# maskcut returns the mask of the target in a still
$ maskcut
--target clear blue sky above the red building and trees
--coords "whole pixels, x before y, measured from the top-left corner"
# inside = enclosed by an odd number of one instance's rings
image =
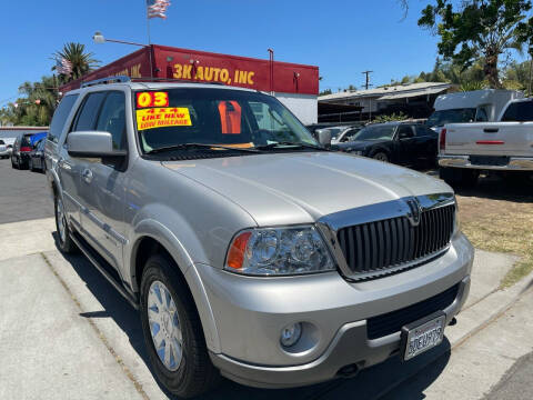
[[[433,69],[438,38],[416,24],[426,1],[411,0],[403,19],[396,0],[171,0],[168,19],[150,21],[152,43],[318,66],[320,88],[338,91],[390,83]],[[51,74],[51,54],[66,42],[86,44],[101,64],[137,48],[92,42],[107,38],[145,43],[144,0],[2,0],[0,107],[24,81]]]

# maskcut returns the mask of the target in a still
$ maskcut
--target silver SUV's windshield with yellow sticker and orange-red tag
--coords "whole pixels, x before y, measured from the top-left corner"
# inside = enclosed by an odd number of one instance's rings
[[[275,98],[259,92],[164,89],[137,92],[135,104],[143,152],[187,143],[235,148],[278,142],[319,144]]]

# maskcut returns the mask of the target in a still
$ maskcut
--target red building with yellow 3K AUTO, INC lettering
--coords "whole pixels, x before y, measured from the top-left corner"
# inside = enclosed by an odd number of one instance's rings
[[[60,88],[78,89],[82,81],[110,76],[153,77],[274,92],[304,123],[316,122],[319,68],[151,44]]]

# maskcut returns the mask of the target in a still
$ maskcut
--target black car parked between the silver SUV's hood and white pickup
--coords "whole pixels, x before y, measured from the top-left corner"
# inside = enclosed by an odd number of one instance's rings
[[[419,123],[386,122],[361,129],[338,150],[404,166],[434,164],[439,134]]]

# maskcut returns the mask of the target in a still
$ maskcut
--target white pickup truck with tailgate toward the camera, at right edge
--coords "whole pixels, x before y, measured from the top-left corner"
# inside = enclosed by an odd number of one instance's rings
[[[533,99],[510,101],[497,121],[444,126],[439,139],[441,179],[472,186],[483,170],[533,173]]]

